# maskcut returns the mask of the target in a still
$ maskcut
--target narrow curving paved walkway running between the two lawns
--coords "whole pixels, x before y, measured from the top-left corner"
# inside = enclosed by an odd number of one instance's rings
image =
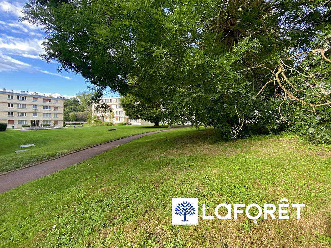
[[[77,151],[57,159],[48,160],[41,164],[32,167],[24,168],[22,170],[13,171],[8,174],[0,176],[0,193],[6,192],[10,189],[16,188],[29,181],[50,175],[54,172],[67,168],[71,165],[80,163],[81,161],[113,149],[119,145],[136,140],[150,134],[160,133],[171,129],[163,129],[159,131],[148,132],[144,134],[137,134],[122,138],[119,140],[111,141],[105,144],[96,145],[82,151]]]

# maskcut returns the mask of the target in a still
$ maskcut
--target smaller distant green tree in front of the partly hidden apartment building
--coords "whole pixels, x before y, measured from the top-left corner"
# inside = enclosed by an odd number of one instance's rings
[[[144,103],[138,98],[128,95],[121,98],[121,106],[130,119],[150,121],[154,123],[155,127],[158,127],[162,120],[162,110],[157,103]]]

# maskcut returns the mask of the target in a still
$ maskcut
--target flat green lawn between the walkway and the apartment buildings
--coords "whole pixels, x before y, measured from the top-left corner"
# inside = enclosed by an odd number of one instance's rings
[[[108,131],[108,128],[116,128]],[[153,126],[77,127],[54,130],[22,131],[7,129],[0,132],[0,172],[25,164],[49,159],[91,145],[126,136],[161,130]],[[20,145],[34,144],[26,148]],[[30,149],[15,153],[15,150]]]

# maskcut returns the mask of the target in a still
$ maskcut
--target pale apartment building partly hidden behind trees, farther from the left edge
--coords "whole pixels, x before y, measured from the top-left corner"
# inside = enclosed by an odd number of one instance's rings
[[[129,119],[128,116],[125,115],[125,111],[123,110],[121,103],[120,103],[120,97],[105,97],[101,99],[101,103],[108,104],[113,112],[114,112],[114,119],[113,123],[120,123],[120,122],[126,122],[130,123],[131,125],[152,125],[153,123],[149,121],[144,120],[133,120]],[[110,114],[109,111],[100,111],[95,109],[95,104],[92,105],[92,118],[93,119],[99,119],[102,121],[111,121],[110,120]]]

